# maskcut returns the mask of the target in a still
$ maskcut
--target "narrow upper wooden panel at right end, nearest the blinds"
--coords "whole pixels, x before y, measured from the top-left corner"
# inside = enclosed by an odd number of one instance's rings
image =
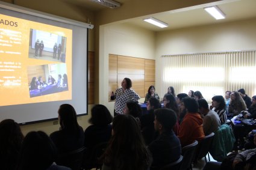
[[[155,60],[145,59],[145,82],[155,81]]]

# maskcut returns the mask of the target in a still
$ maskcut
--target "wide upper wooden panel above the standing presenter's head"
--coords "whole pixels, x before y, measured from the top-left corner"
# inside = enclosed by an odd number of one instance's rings
[[[118,55],[117,74],[145,74],[145,59]]]

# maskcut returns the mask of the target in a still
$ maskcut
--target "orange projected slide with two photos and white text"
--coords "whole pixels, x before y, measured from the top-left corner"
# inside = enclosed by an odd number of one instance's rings
[[[72,30],[0,19],[0,106],[71,100]]]

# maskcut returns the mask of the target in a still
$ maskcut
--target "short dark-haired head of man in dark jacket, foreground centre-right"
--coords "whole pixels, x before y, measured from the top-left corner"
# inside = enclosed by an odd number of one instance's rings
[[[177,121],[176,113],[172,109],[155,109],[154,127],[158,132],[171,132]]]

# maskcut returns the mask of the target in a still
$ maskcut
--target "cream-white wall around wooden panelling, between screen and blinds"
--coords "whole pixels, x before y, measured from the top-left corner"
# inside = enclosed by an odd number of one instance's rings
[[[114,102],[108,102],[108,54],[155,59],[155,32],[119,23],[101,26],[99,37],[99,103],[113,114]]]

